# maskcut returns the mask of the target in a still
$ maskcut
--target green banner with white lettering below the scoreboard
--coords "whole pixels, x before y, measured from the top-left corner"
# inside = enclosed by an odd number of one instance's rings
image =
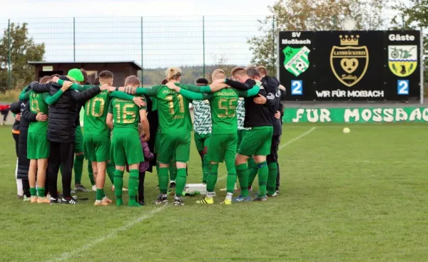
[[[285,108],[284,122],[428,122],[428,108]]]

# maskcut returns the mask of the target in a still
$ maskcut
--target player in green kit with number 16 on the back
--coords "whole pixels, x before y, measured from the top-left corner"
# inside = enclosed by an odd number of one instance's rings
[[[132,85],[132,83],[130,84]],[[131,86],[126,88],[136,89]],[[113,98],[111,100],[110,106],[108,107],[107,125],[113,129],[113,139],[111,140],[111,160],[116,164],[116,170],[114,172],[114,187],[117,206],[123,205],[123,172],[126,164],[129,166],[128,206],[141,206],[136,201],[139,176],[138,167],[140,162],[144,161],[143,150],[141,150],[140,135],[138,133],[138,119],[141,122],[144,133],[146,134],[144,142],[147,142],[150,139],[150,127],[147,120],[146,106],[138,108],[137,105],[129,100],[119,98]]]

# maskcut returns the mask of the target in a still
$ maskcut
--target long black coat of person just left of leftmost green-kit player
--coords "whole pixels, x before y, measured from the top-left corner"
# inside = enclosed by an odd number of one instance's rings
[[[18,179],[29,179],[30,160],[27,158],[27,135],[30,122],[36,121],[36,114],[30,111],[29,101],[19,101],[21,106],[21,122],[19,127],[18,145]]]

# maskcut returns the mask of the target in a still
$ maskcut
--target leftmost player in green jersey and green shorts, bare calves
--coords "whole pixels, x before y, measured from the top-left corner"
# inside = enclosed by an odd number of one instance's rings
[[[49,78],[46,83],[51,79]],[[41,79],[41,83],[44,83]],[[29,98],[30,111],[34,114],[42,113],[48,115],[49,105],[56,103],[58,98],[68,90],[71,85],[64,85],[54,95],[49,93],[35,93],[33,90],[27,92],[26,98]],[[20,97],[21,98],[21,97]],[[29,185],[31,194],[31,203],[49,204],[50,199],[45,197],[46,168],[48,167],[48,157],[50,153],[49,140],[46,137],[48,132],[48,122],[31,122],[27,137],[27,158],[30,159]],[[36,178],[38,187],[36,189]]]

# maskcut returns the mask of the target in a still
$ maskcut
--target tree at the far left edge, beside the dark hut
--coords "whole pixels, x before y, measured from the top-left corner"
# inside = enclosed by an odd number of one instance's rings
[[[29,38],[27,23],[23,23],[22,26],[19,23],[11,23],[10,40],[9,65],[9,32],[6,29],[3,38],[0,38],[0,87],[22,87],[34,79],[34,71],[28,61],[43,61],[45,45],[34,43],[33,38]],[[11,83],[8,83],[9,68]]]

